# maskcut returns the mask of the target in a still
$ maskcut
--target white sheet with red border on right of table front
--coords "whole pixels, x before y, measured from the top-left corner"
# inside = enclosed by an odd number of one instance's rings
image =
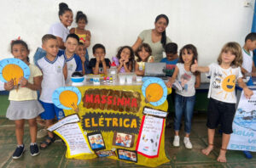
[[[163,118],[143,116],[136,147],[137,154],[143,154],[148,158],[158,157],[164,122]]]

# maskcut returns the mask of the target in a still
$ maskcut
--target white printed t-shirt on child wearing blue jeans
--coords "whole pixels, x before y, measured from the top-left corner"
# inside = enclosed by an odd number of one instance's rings
[[[184,68],[184,64],[177,63],[178,68],[177,81],[183,87],[182,91],[176,90],[176,93],[184,97],[191,97],[195,95],[195,75],[191,71]]]

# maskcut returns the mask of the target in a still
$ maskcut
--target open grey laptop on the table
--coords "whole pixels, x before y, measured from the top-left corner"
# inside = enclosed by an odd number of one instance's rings
[[[144,76],[166,77],[166,63],[145,63]]]

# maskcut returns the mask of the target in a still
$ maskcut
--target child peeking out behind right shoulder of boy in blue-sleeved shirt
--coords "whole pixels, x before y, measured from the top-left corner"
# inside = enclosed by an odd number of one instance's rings
[[[89,66],[89,56],[84,43],[79,42],[79,47],[77,48],[76,54],[79,55],[82,61],[83,74],[92,74],[92,70]]]

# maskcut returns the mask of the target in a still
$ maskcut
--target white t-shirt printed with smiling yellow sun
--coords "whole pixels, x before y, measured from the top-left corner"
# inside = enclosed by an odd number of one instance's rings
[[[216,63],[208,67],[210,70],[207,76],[211,76],[208,98],[236,104],[236,81],[242,77],[240,67],[223,69]]]

